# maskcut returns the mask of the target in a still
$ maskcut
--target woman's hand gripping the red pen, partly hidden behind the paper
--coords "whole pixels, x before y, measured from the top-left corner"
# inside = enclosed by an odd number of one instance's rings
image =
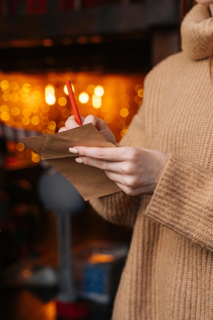
[[[94,127],[98,129],[98,131],[103,135],[103,137],[106,139],[106,141],[116,144],[115,136],[112,133],[112,131],[109,129],[108,125],[103,119],[94,117],[92,115],[87,116],[86,118],[81,117],[82,125],[92,123]],[[65,126],[60,128],[58,132],[62,132],[65,130],[73,129],[79,127],[79,124],[77,123],[75,116],[70,116],[66,122]]]

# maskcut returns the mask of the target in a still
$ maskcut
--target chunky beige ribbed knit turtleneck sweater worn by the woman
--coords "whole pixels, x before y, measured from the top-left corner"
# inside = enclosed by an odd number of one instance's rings
[[[213,18],[196,5],[181,25],[182,52],[147,75],[143,105],[122,145],[170,154],[153,196],[91,201],[132,242],[113,320],[213,319]]]

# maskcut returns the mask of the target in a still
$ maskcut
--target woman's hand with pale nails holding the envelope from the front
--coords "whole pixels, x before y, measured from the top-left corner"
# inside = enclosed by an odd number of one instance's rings
[[[74,147],[76,162],[104,170],[126,194],[152,195],[167,163],[168,155],[135,147]]]

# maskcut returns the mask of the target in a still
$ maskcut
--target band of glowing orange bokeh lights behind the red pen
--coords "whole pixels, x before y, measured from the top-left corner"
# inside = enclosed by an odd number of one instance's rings
[[[43,134],[57,132],[64,126],[66,119],[73,115],[67,97],[67,79],[75,83],[75,88],[73,83],[72,87],[76,101],[80,101],[80,115],[86,117],[92,114],[104,119],[117,141],[128,130],[130,120],[144,94],[143,79],[141,80],[139,75],[83,72],[35,75],[1,73],[1,79],[0,121],[7,126],[35,130]],[[18,156],[26,156],[26,150],[17,153]]]

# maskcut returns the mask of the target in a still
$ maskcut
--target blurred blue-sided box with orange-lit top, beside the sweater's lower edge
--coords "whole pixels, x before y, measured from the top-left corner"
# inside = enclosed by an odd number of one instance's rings
[[[75,249],[76,295],[100,303],[114,299],[129,247],[125,243],[93,241]]]

